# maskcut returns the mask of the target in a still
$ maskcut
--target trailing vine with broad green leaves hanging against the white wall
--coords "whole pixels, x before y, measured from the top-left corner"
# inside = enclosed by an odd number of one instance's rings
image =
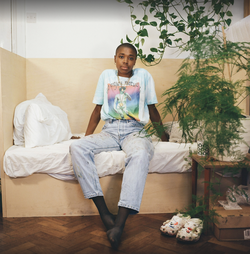
[[[162,60],[167,47],[182,49],[202,34],[213,32],[216,36],[221,31],[220,26],[231,24],[232,13],[228,8],[234,4],[233,0],[147,0],[139,3],[143,10],[140,18],[134,14],[133,1],[117,1],[127,3],[130,7],[132,27],[136,35],[129,40],[127,37],[127,41],[137,47],[142,62],[150,66]],[[156,55],[147,55],[143,51],[150,28],[158,33],[158,46],[151,49]]]

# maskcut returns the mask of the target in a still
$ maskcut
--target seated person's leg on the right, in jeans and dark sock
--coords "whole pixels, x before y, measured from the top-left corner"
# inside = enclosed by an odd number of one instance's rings
[[[121,122],[119,126],[121,147],[126,153],[126,161],[118,215],[114,228],[107,231],[108,239],[114,249],[118,248],[128,215],[131,212],[139,212],[149,162],[154,154],[151,140],[146,138],[145,134],[139,135],[141,128],[142,126],[136,121],[129,124]]]

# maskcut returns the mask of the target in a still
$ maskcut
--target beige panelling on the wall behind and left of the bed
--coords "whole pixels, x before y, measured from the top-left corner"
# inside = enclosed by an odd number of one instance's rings
[[[175,83],[181,61],[164,59],[149,68],[137,63],[136,67],[146,68],[152,74],[159,102],[161,94]],[[73,133],[84,132],[94,108],[92,99],[99,75],[104,69],[114,67],[113,59],[24,59],[0,48],[0,167],[4,216],[7,214],[6,200],[13,195],[8,188],[12,186],[10,182],[14,185],[20,182],[10,179],[2,169],[4,152],[13,143],[15,107],[43,93],[68,114]],[[171,116],[165,120],[171,120]],[[101,125],[97,131],[100,128]]]

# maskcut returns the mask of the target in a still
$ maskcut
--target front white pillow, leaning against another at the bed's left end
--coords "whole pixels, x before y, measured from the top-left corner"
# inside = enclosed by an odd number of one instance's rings
[[[67,114],[52,104],[31,103],[25,114],[25,148],[47,146],[72,136]]]

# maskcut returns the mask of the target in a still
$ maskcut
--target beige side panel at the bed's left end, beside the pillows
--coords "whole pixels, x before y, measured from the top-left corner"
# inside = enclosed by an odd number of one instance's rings
[[[13,144],[14,109],[26,99],[26,60],[2,48],[0,48],[0,88],[0,176],[2,202],[5,204],[6,175],[2,168],[3,156]]]

